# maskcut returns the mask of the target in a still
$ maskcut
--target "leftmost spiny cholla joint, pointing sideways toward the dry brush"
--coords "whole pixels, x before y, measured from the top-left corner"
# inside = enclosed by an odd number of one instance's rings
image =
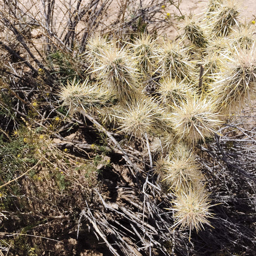
[[[74,79],[61,88],[59,98],[62,105],[68,107],[70,113],[83,113],[106,106],[110,94],[106,88],[89,83],[89,78],[83,83]]]

